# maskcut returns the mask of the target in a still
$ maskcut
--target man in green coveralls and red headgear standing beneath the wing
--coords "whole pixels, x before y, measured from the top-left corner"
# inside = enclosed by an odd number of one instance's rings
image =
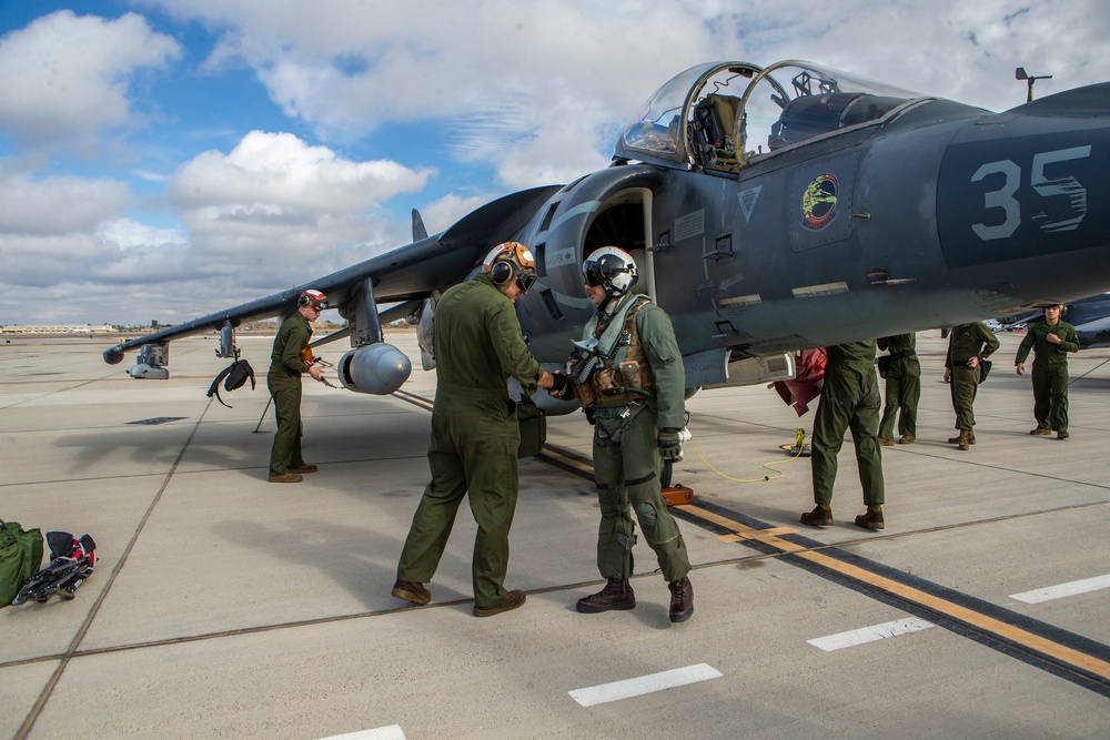
[[[270,483],[300,483],[302,473],[315,473],[301,457],[301,376],[324,377],[323,371],[304,358],[312,339],[312,325],[327,307],[327,296],[320,291],[304,291],[296,298],[296,311],[282,321],[270,355],[266,387],[274,399],[278,434],[270,452]],[[310,357],[311,349],[306,353]]]

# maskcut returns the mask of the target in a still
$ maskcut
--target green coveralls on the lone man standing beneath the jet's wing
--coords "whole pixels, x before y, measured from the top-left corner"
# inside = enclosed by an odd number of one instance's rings
[[[274,348],[270,355],[266,387],[274,399],[278,433],[270,450],[270,475],[283,475],[290,468],[304,465],[301,457],[301,375],[309,366],[301,358],[301,349],[312,339],[309,320],[297,311],[278,327]]]

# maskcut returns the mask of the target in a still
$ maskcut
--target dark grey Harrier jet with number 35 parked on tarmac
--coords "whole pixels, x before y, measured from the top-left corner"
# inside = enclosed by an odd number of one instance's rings
[[[440,292],[512,240],[536,256],[539,281],[516,306],[551,367],[593,311],[583,260],[616,245],[670,314],[692,389],[781,379],[796,351],[1104,290],[1107,173],[1110,83],[992,113],[803,61],[706,63],[652,95],[605,170],[506,195],[434,236],[414,212],[412,244],[104,359],[139,349],[130,374],[165,377],[170,341],[213,330],[234,356],[235,326],[289,314],[314,287],[349,322],[342,384],[389,394],[411,364],[383,322],[428,323]]]

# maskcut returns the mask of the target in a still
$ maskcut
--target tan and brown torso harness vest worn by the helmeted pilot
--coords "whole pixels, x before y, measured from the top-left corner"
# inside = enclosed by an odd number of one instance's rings
[[[594,315],[566,363],[574,397],[583,408],[635,406],[655,397],[655,376],[636,331],[636,314],[652,300],[638,295],[597,334]]]

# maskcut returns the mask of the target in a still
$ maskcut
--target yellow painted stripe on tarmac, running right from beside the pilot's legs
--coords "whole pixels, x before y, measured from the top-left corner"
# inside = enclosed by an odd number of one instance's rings
[[[790,554],[819,565],[823,568],[847,576],[848,578],[857,580],[861,584],[874,586],[875,588],[901,597],[907,601],[919,604],[938,614],[942,614],[963,624],[971,625],[972,627],[976,627],[985,632],[997,635],[998,637],[1009,640],[1010,642],[1027,647],[1030,650],[1036,650],[1045,656],[1054,658],[1060,662],[1074,666],[1076,668],[1101,678],[1110,679],[1110,662],[1106,660],[1101,660],[1093,656],[1089,656],[1086,652],[1074,650],[1060,645],[1059,642],[1040,637],[1039,635],[1035,635],[1028,630],[1021,629],[1020,627],[1008,625],[1005,621],[995,619],[993,617],[988,617],[987,615],[980,614],[973,609],[961,607],[958,604],[949,601],[948,599],[934,596],[922,591],[921,589],[914,588],[912,586],[907,586],[890,578],[879,576],[878,574],[874,574],[870,570],[860,568],[859,566],[854,566],[842,560],[829,557],[824,553],[815,553],[814,550],[810,550],[801,545],[787,543],[777,536],[778,534],[796,534],[795,530],[789,528],[783,527],[778,530],[755,529],[740,524],[739,521],[734,521],[728,517],[720,516],[719,514],[707,511],[706,509],[693,504],[686,504],[677,508],[680,508],[684,511],[689,511],[706,521],[712,521],[718,526],[727,527],[734,531],[733,535],[722,535],[719,537],[720,539],[728,537],[735,537],[735,540],[731,541],[757,539],[784,551],[789,551]]]

